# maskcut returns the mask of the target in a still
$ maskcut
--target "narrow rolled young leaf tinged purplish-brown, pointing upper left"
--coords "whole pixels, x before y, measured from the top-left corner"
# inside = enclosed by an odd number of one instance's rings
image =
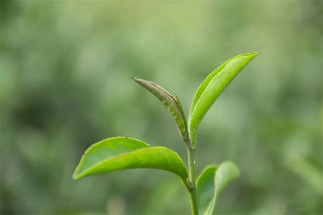
[[[161,103],[168,109],[170,114],[173,116],[177,128],[180,132],[180,136],[183,140],[187,137],[186,131],[186,119],[184,112],[181,111],[180,104],[178,102],[178,98],[175,99],[174,96],[172,96],[169,92],[167,92],[164,88],[161,86],[147,81],[143,79],[133,78],[134,81],[136,81],[139,85],[145,87],[148,91],[150,91],[154,96],[156,96]]]

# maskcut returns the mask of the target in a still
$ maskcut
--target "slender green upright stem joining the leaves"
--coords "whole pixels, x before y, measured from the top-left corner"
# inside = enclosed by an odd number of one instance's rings
[[[189,198],[191,201],[192,214],[198,215],[196,199],[196,186],[195,186],[195,148],[190,140],[185,141],[187,145],[187,157],[188,157],[188,183],[189,183]]]

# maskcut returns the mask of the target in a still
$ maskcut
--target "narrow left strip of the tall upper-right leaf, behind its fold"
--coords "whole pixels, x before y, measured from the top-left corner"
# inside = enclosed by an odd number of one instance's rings
[[[198,102],[200,101],[200,98],[203,96],[203,93],[205,92],[206,88],[208,87],[209,83],[215,78],[215,76],[217,76],[221,71],[223,71],[225,69],[225,67],[227,66],[227,64],[229,64],[231,61],[238,59],[240,57],[247,57],[247,56],[251,56],[251,55],[258,55],[258,52],[250,52],[250,53],[245,53],[245,54],[240,54],[237,55],[229,60],[227,60],[226,62],[224,62],[223,64],[221,64],[219,67],[217,67],[213,72],[211,72],[207,78],[202,82],[202,84],[198,87],[198,89],[195,92],[195,95],[193,97],[193,101],[191,104],[191,107],[189,109],[189,114],[188,114],[188,131],[189,131],[189,135],[191,140],[193,141],[193,143],[195,144],[195,136],[196,136],[196,131],[195,131],[195,135],[192,138],[191,136],[191,120],[192,117],[194,115],[194,111],[195,111],[195,107],[198,104]]]

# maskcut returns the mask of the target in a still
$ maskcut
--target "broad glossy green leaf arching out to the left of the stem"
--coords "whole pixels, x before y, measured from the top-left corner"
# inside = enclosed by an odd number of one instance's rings
[[[176,152],[165,147],[150,147],[133,138],[113,137],[93,144],[84,152],[73,179],[138,168],[166,170],[187,178],[185,164]]]

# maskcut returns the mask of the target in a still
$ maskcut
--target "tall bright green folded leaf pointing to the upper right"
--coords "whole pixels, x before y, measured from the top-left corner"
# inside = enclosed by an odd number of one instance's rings
[[[196,144],[196,130],[222,91],[232,79],[255,57],[258,52],[238,55],[215,69],[197,89],[188,116],[191,140]]]

